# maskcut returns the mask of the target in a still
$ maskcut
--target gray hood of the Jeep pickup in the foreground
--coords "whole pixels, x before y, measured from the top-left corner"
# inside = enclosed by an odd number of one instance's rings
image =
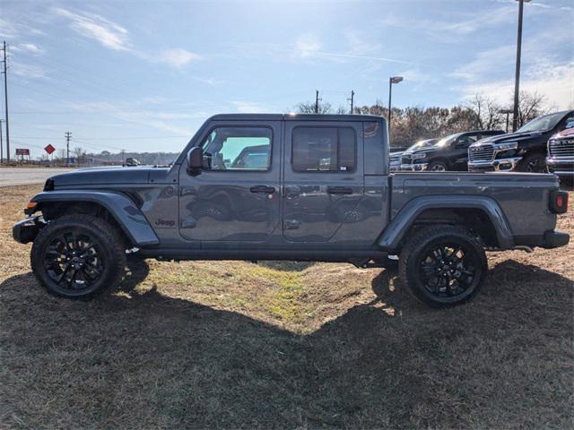
[[[124,168],[79,168],[72,172],[52,176],[54,186],[68,185],[111,185],[111,184],[147,184],[151,166]]]

